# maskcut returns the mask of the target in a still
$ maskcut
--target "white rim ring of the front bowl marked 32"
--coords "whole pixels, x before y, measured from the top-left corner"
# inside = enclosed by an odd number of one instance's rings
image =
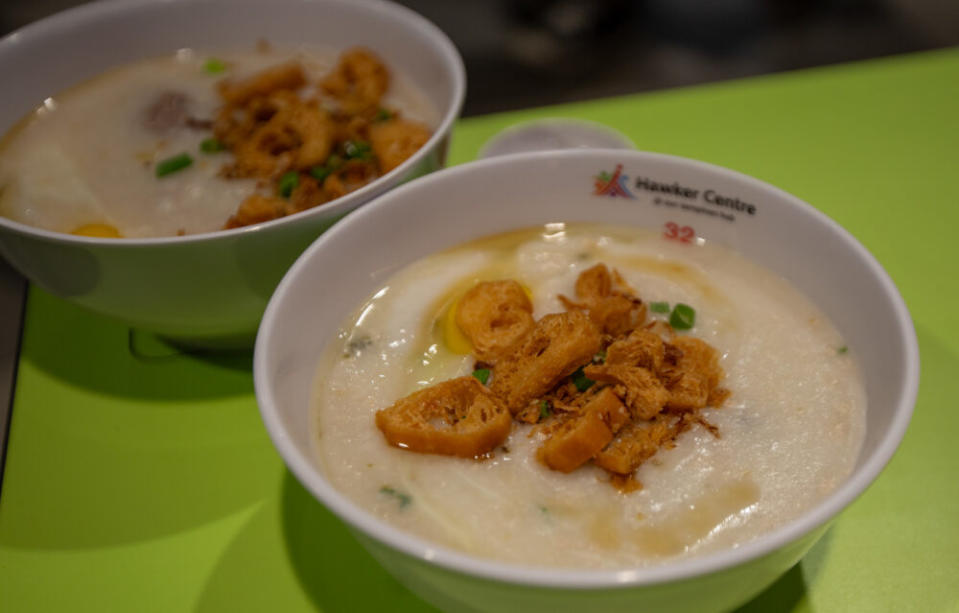
[[[800,517],[793,519],[785,525],[761,534],[755,539],[732,549],[724,549],[701,556],[637,568],[602,570],[569,569],[563,567],[522,565],[473,556],[432,543],[425,538],[406,533],[374,517],[368,511],[347,498],[345,494],[339,492],[339,490],[326,480],[309,457],[301,454],[294,445],[288,442],[285,428],[279,417],[279,411],[270,393],[271,375],[269,363],[267,362],[267,354],[271,351],[273,344],[272,329],[274,322],[277,321],[277,314],[285,301],[284,297],[297,283],[297,278],[301,275],[301,271],[310,266],[312,261],[323,252],[325,245],[333,240],[340,232],[346,231],[353,225],[371,223],[368,219],[376,215],[380,208],[391,206],[391,203],[394,202],[395,199],[399,199],[410,192],[415,193],[419,190],[429,189],[430,185],[434,182],[450,180],[461,174],[482,171],[485,168],[514,165],[518,162],[531,164],[547,163],[549,161],[555,161],[557,158],[582,158],[584,160],[591,160],[611,154],[615,154],[623,159],[628,159],[631,162],[656,159],[665,160],[673,164],[688,165],[700,170],[718,172],[733,180],[760,188],[766,191],[771,197],[779,199],[786,203],[787,206],[799,208],[818,223],[824,224],[828,229],[836,232],[849,247],[851,255],[862,260],[879,282],[895,314],[896,326],[894,332],[897,334],[899,342],[901,342],[905,348],[904,358],[906,365],[902,374],[900,393],[898,398],[895,399],[894,414],[888,429],[880,437],[873,453],[866,457],[865,461],[826,498],[811,507]],[[496,582],[540,588],[562,588],[571,590],[615,589],[650,586],[693,579],[740,566],[769,555],[812,533],[816,528],[828,524],[828,522],[850,505],[875,481],[879,473],[898,449],[912,417],[918,393],[919,346],[915,328],[906,304],[892,279],[875,257],[837,222],[796,196],[738,171],[691,158],[648,151],[624,151],[617,149],[568,150],[496,156],[450,167],[432,173],[417,181],[402,185],[392,190],[389,194],[377,198],[371,202],[369,206],[363,207],[337,223],[304,251],[287,271],[287,274],[271,297],[257,333],[254,348],[253,374],[261,418],[278,453],[300,483],[309,490],[321,504],[332,510],[341,520],[352,528],[363,532],[368,537],[379,541],[391,549],[398,550],[419,561],[437,565],[454,573],[462,573]]]

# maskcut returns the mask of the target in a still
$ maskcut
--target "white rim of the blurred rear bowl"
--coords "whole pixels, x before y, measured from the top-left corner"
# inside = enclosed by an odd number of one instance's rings
[[[273,2],[275,0],[269,0]],[[65,232],[46,230],[25,224],[0,215],[0,227],[6,227],[20,234],[33,236],[52,242],[65,242],[78,245],[100,245],[104,247],[131,247],[131,246],[162,246],[168,244],[198,243],[215,240],[221,237],[240,237],[269,229],[279,229],[289,224],[299,223],[302,220],[318,217],[336,219],[337,216],[350,212],[352,209],[365,204],[378,193],[395,188],[403,175],[419,165],[428,155],[443,146],[442,141],[449,137],[453,123],[459,117],[466,98],[466,67],[463,58],[453,41],[436,24],[420,15],[416,11],[401,4],[388,0],[284,0],[288,5],[329,4],[345,6],[348,10],[380,12],[402,22],[406,27],[418,31],[425,40],[428,40],[442,60],[443,67],[451,77],[451,101],[442,112],[440,122],[433,129],[429,140],[402,164],[386,174],[377,177],[374,181],[364,185],[356,191],[331,200],[320,206],[293,213],[279,219],[232,228],[229,230],[210,230],[184,236],[151,236],[130,238],[99,238],[78,236]],[[0,38],[0,56],[8,49],[20,44],[30,44],[49,38],[55,41],[56,36],[63,30],[83,28],[117,13],[136,13],[155,6],[172,6],[188,4],[231,4],[229,0],[94,0],[93,2],[71,7],[59,11],[35,22],[26,24]],[[122,64],[122,62],[121,62]],[[117,66],[121,64],[115,64]],[[22,120],[21,118],[20,120]],[[20,121],[18,120],[18,121]],[[13,126],[17,125],[14,123]],[[0,133],[0,139],[9,131]]]

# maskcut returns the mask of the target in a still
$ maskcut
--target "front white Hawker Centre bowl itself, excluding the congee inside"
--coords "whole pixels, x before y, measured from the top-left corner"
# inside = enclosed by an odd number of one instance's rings
[[[597,181],[601,171],[613,179]],[[693,186],[700,195],[714,190],[748,206],[736,210],[648,192],[638,186],[639,178]],[[614,184],[625,193],[609,195]],[[471,557],[405,534],[331,487],[311,450],[310,390],[321,352],[344,318],[418,258],[480,236],[560,221],[666,232],[688,227],[761,262],[805,293],[861,360],[868,415],[852,475],[798,519],[737,549],[616,571]],[[387,569],[447,611],[703,612],[747,601],[795,564],[879,475],[906,430],[918,372],[915,332],[895,286],[865,248],[825,215],[736,172],[610,150],[493,158],[383,195],[327,232],[291,268],[266,310],[254,358],[263,420],[290,470]]]

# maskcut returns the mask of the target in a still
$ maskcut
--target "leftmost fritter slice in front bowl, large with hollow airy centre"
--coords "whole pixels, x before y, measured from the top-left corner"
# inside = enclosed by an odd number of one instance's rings
[[[376,412],[387,442],[417,451],[475,458],[509,436],[512,416],[475,377],[437,383]]]

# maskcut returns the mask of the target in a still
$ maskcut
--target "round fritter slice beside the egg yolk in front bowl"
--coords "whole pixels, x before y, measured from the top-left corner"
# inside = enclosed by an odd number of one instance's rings
[[[456,325],[473,344],[476,358],[495,364],[503,351],[536,325],[533,303],[516,281],[484,281],[460,298]]]

